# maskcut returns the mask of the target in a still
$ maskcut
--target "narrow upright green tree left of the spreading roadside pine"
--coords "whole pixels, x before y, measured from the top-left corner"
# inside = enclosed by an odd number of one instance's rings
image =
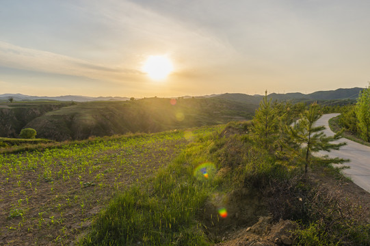
[[[256,110],[252,122],[254,141],[260,143],[265,150],[270,150],[278,138],[278,117],[271,99],[267,100],[267,90],[265,97],[259,104],[259,109]]]

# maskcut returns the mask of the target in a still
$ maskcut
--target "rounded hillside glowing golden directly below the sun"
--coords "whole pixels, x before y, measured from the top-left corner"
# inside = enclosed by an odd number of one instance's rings
[[[38,137],[64,141],[124,133],[154,133],[252,118],[257,105],[220,98],[172,101],[145,98],[124,102],[84,102],[50,111],[28,122]]]

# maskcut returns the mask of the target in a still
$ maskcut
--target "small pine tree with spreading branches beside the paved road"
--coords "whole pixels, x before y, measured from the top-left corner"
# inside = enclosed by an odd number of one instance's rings
[[[313,103],[310,105],[309,109],[301,113],[300,120],[295,126],[287,126],[287,131],[293,140],[293,146],[288,149],[291,150],[292,158],[300,159],[304,163],[304,172],[307,172],[308,163],[311,162],[312,153],[319,152],[320,150],[325,150],[330,152],[330,150],[339,150],[341,146],[347,143],[331,143],[334,140],[341,138],[341,133],[336,133],[332,137],[326,137],[323,133],[325,126],[315,126],[315,122],[321,117],[321,111],[319,110],[319,105]],[[297,146],[303,147],[297,148]],[[344,163],[347,160],[339,158],[329,158],[327,155],[316,158],[316,161],[321,163]]]

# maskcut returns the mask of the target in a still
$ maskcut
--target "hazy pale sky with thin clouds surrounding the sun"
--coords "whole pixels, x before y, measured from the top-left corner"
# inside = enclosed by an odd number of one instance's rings
[[[172,97],[366,87],[369,0],[1,0],[0,94]],[[164,55],[165,79],[143,71]]]

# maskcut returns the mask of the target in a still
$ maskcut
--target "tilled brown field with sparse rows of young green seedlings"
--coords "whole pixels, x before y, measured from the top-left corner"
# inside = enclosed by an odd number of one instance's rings
[[[153,176],[186,142],[183,132],[174,131],[1,154],[0,241],[61,245],[74,240],[117,191]]]

